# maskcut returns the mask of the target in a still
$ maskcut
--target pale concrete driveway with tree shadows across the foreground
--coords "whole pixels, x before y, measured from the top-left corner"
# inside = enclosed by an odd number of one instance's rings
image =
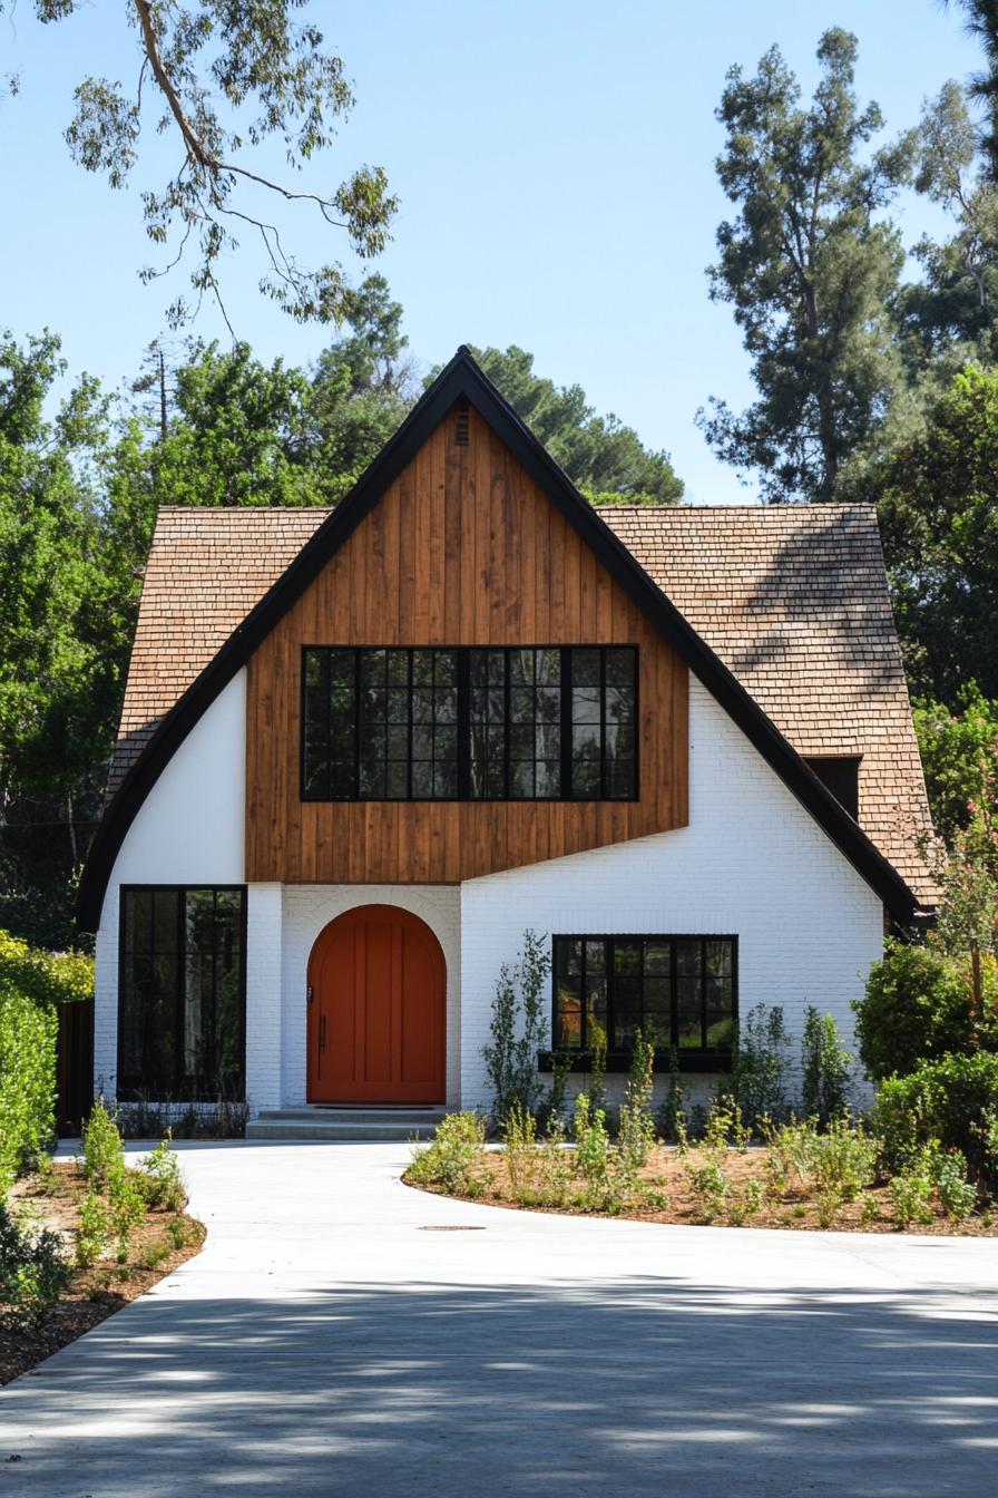
[[[995,1491],[994,1240],[504,1212],[407,1155],[187,1146],[205,1251],[0,1392],[0,1498]]]

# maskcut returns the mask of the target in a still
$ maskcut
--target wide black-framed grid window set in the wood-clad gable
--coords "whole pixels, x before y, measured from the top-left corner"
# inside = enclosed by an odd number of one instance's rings
[[[307,647],[305,801],[634,800],[633,646]]]

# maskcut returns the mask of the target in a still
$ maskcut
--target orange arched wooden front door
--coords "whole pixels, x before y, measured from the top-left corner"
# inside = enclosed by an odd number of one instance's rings
[[[308,1101],[443,1103],[446,968],[425,921],[362,905],[308,960]]]

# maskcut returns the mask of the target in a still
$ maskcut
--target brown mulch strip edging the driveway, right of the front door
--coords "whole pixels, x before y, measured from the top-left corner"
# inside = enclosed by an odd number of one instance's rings
[[[750,1149],[744,1153],[739,1153],[738,1150],[729,1152],[723,1168],[735,1191],[744,1189],[751,1179],[759,1180],[760,1185],[765,1183],[766,1155],[768,1150],[765,1149]],[[702,1159],[694,1150],[690,1152],[687,1159],[696,1164],[706,1164],[706,1161]],[[482,1161],[479,1161],[474,1176],[480,1182],[482,1189],[477,1194],[449,1192],[440,1186],[423,1186],[419,1182],[410,1180],[408,1174],[402,1176],[402,1180],[405,1185],[414,1186],[420,1191],[429,1191],[434,1195],[456,1195],[465,1201],[480,1201],[497,1207],[515,1207],[521,1212],[557,1212],[561,1215],[567,1213],[570,1216],[615,1216],[627,1218],[636,1222],[672,1222],[687,1227],[703,1227],[706,1224],[702,1203],[682,1165],[682,1158],[675,1149],[654,1149],[640,1174],[643,1180],[646,1180],[649,1191],[667,1198],[667,1206],[642,1201],[640,1198],[631,1198],[619,1212],[593,1210],[591,1207],[581,1204],[578,1200],[573,1201],[573,1194],[582,1192],[585,1185],[582,1180],[576,1179],[573,1179],[569,1186],[569,1200],[564,1206],[552,1206],[549,1201],[545,1201],[540,1189],[537,1191],[539,1200],[531,1198],[533,1192],[528,1192],[527,1198],[522,1195],[518,1197],[510,1185],[506,1171],[506,1159],[500,1150],[489,1150],[483,1155]],[[537,1176],[537,1186],[540,1186],[540,1174]],[[875,1204],[875,1216],[863,1215],[863,1201],[866,1198]],[[871,1212],[869,1207],[868,1212]],[[735,1224],[730,1224],[726,1213],[720,1212],[712,1218],[711,1225],[729,1227]],[[817,1194],[803,1191],[798,1186],[790,1186],[780,1197],[765,1191],[760,1210],[738,1225],[787,1228],[790,1231],[805,1233],[815,1230],[820,1231],[821,1224],[818,1221]],[[895,1221],[890,1186],[883,1182],[868,1186],[856,1201],[842,1204],[835,1213],[830,1231],[928,1233],[943,1237],[998,1237],[998,1212],[992,1209],[991,1212],[971,1216],[964,1222],[955,1222],[952,1218],[947,1218],[940,1203],[934,1198],[931,1224],[913,1224],[911,1227],[901,1228]]]

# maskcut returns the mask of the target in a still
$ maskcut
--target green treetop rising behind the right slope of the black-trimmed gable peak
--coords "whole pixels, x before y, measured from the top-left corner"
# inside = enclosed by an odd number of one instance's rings
[[[645,448],[616,416],[597,416],[581,385],[534,374],[534,357],[515,345],[471,349],[518,416],[593,503],[675,505],[684,484],[667,452]]]

